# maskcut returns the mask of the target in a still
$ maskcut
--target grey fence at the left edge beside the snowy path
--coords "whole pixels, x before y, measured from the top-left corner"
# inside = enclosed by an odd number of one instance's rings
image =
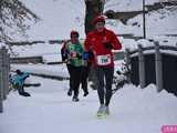
[[[2,47],[0,49],[0,113],[3,112],[3,100],[9,93],[9,73],[10,73],[10,54],[8,50]]]

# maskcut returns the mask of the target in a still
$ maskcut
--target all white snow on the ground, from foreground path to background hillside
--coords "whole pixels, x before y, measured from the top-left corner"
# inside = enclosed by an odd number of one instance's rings
[[[41,21],[28,31],[28,40],[69,39],[71,30],[77,30],[84,39],[84,1],[82,0],[22,0],[31,10],[41,17]],[[140,10],[142,0],[106,0],[105,10]],[[158,0],[146,0],[153,3]],[[158,40],[160,44],[176,45],[177,10],[163,9],[150,12],[147,19],[147,37]],[[137,22],[140,27],[133,25]],[[117,34],[133,33],[142,35],[142,16],[131,19],[127,25],[121,21],[107,20],[106,27]],[[17,40],[25,40],[13,34]],[[135,41],[121,38],[124,49],[135,49],[138,43],[150,45],[147,40]],[[60,61],[60,44],[34,44],[12,47],[19,57],[42,55],[48,61]],[[123,50],[124,50],[123,49]],[[119,64],[121,62],[116,62]],[[42,74],[69,76],[65,65],[28,64],[12,65]],[[0,133],[160,133],[163,125],[177,124],[177,98],[162,91],[156,92],[154,84],[145,89],[125,85],[118,90],[111,102],[111,115],[105,120],[95,116],[98,109],[96,91],[90,89],[90,95],[74,103],[66,95],[69,81],[55,81],[31,76],[31,82],[40,82],[39,88],[28,88],[31,98],[19,96],[11,91],[3,102],[4,112],[0,114]]]

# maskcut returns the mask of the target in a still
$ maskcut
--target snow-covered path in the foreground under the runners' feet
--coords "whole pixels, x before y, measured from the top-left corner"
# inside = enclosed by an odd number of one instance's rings
[[[0,133],[160,133],[164,124],[177,124],[176,98],[155,86],[126,85],[112,99],[111,115],[97,120],[96,91],[80,102],[66,95],[69,81],[32,76],[40,88],[28,88],[31,98],[11,92],[0,114]]]

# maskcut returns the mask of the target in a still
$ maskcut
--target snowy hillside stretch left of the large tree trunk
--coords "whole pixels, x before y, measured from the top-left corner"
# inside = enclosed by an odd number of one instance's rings
[[[28,31],[30,39],[69,39],[72,29],[84,34],[84,2],[80,0],[22,1],[42,19]]]

